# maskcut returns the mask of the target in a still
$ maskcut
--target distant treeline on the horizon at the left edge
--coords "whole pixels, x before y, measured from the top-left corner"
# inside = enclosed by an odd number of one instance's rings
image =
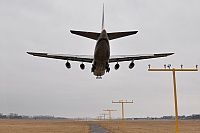
[[[38,115],[38,116],[27,116],[27,115],[18,115],[16,113],[10,113],[9,115],[4,115],[0,113],[0,119],[67,119],[65,117],[55,117],[55,116],[47,116],[47,115]]]

